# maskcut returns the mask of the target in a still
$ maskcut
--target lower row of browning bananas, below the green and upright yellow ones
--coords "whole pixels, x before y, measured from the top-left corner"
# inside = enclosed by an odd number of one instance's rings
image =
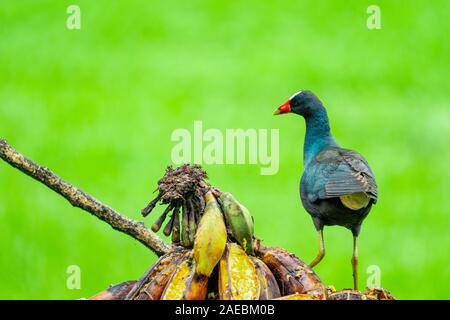
[[[219,250],[217,250],[218,252]],[[226,243],[209,276],[198,271],[195,251],[181,249],[161,257],[138,281],[126,281],[91,300],[313,300],[326,290],[314,272],[283,249],[263,247],[249,256]],[[277,260],[278,259],[278,260]],[[209,259],[212,266],[215,259]],[[267,261],[267,263],[266,263]],[[274,264],[278,261],[278,264]],[[205,264],[205,262],[202,262]],[[211,267],[210,267],[211,268]],[[285,271],[286,270],[286,271]],[[292,270],[296,270],[293,272]],[[202,274],[203,273],[203,274]]]

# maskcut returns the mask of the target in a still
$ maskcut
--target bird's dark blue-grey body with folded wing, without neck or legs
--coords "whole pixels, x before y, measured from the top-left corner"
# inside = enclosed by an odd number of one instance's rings
[[[345,207],[339,199],[358,192],[370,197],[369,204],[359,210]],[[360,154],[330,146],[305,166],[300,197],[317,229],[324,225],[341,225],[358,235],[362,221],[377,201],[378,192],[373,173]]]

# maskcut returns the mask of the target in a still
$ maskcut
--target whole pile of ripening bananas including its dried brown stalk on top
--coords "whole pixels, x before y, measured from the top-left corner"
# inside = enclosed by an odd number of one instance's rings
[[[168,204],[152,229],[172,234],[174,249],[137,281],[126,281],[92,300],[355,300],[394,299],[383,289],[365,293],[325,288],[294,254],[254,237],[248,209],[231,193],[203,181],[200,167],[168,168],[159,195],[143,210]],[[179,215],[181,214],[181,219]],[[182,228],[180,228],[180,226]]]

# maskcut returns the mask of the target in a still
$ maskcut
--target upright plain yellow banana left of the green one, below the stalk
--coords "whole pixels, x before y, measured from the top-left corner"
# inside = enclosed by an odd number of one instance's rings
[[[222,257],[227,231],[219,204],[211,192],[205,195],[206,207],[198,225],[194,241],[196,272],[209,277]]]

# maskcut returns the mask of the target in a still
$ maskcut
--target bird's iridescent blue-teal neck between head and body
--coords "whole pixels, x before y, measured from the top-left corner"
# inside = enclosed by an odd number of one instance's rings
[[[306,135],[303,145],[303,163],[306,167],[324,148],[338,146],[330,131],[327,111],[321,107],[305,117]]]

